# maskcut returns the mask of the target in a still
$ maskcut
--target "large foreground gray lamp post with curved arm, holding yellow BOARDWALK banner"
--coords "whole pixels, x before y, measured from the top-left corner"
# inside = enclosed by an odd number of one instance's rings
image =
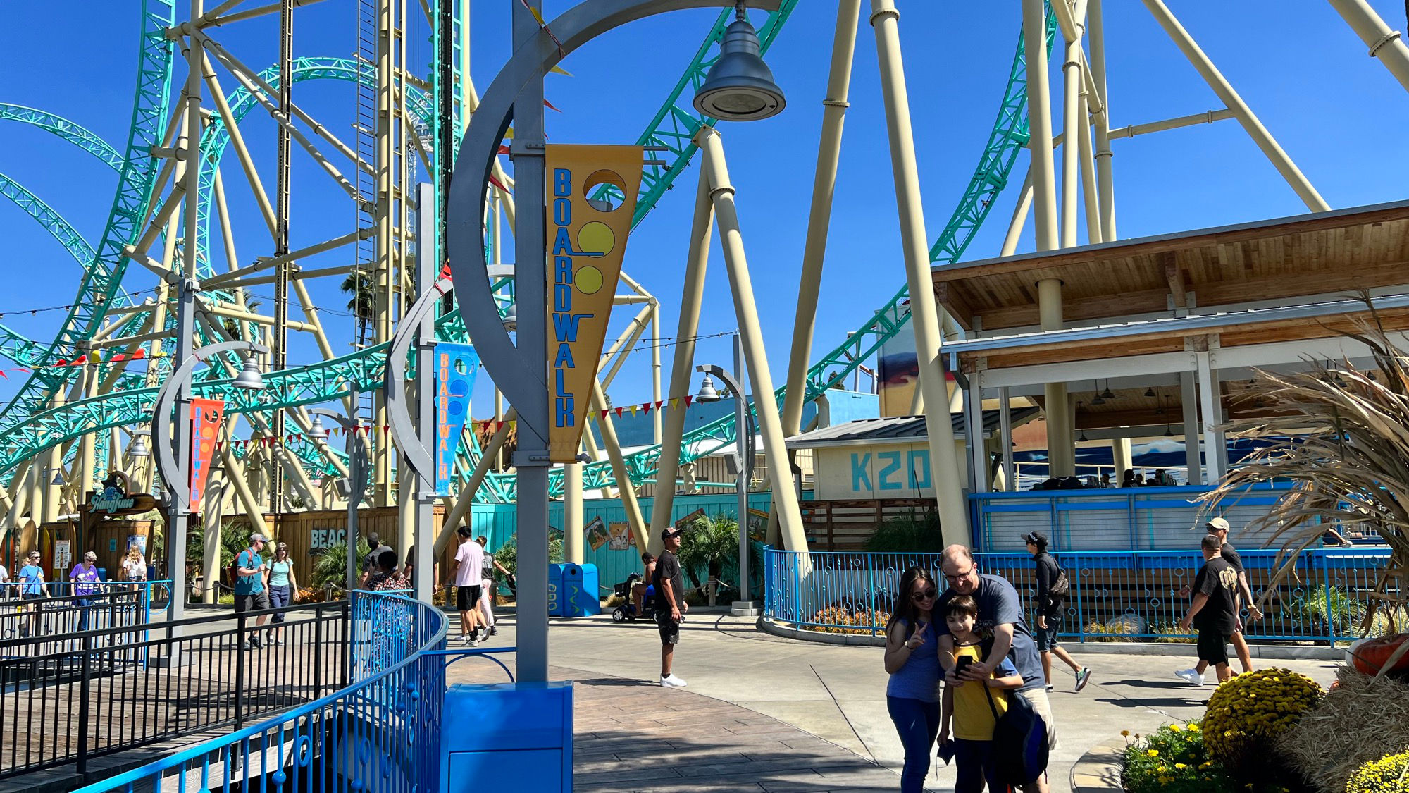
[[[445,250],[455,279],[455,293],[465,330],[485,370],[493,377],[519,413],[519,450],[514,467],[519,471],[519,679],[540,682],[548,679],[548,262],[547,255],[547,195],[544,175],[542,120],[544,76],[593,38],[665,11],[735,6],[728,0],[585,0],[568,8],[548,24],[534,18],[527,3],[514,4],[513,58],[499,71],[480,97],[455,159],[455,174],[445,200]],[[779,0],[755,0],[755,8],[776,10]],[[748,62],[761,63],[751,51],[748,27],[731,28],[734,34],[721,47],[723,55],[733,54],[731,68]],[[757,37],[752,37],[757,47]],[[764,69],[766,71],[766,68]],[[761,71],[745,69],[761,75]],[[712,75],[713,76],[713,75]],[[721,120],[761,119],[757,107],[764,85],[730,86],[720,73],[719,93],[709,95],[710,106]],[[709,86],[706,80],[706,86]],[[703,89],[704,86],[702,86]],[[710,86],[714,87],[714,86]],[[744,93],[752,92],[754,107]],[[782,92],[774,85],[779,103],[771,113],[782,110]],[[702,92],[703,93],[703,92]],[[733,95],[733,96],[731,96]],[[771,114],[769,113],[769,114]],[[499,317],[485,257],[485,185],[509,124],[514,126],[509,157],[514,162],[519,185],[519,213],[514,220],[514,244],[520,251],[538,251],[517,257],[514,295],[517,344],[509,337]],[[521,313],[521,316],[519,316]],[[406,319],[403,319],[403,323]],[[392,357],[387,358],[393,360]],[[393,423],[395,426],[395,423]]]

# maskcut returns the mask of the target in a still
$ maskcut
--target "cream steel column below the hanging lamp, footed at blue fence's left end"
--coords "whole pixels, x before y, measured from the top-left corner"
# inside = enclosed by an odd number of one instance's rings
[[[700,172],[709,175],[710,198],[714,202],[719,240],[724,253],[724,270],[728,272],[728,286],[734,296],[734,315],[738,319],[738,334],[744,344],[744,361],[748,364],[748,381],[754,387],[754,394],[759,395],[754,401],[754,409],[758,412],[758,430],[764,437],[764,460],[768,466],[768,481],[772,484],[774,511],[778,512],[783,549],[805,550],[807,535],[803,533],[797,491],[793,487],[792,468],[783,447],[782,416],[778,415],[778,404],[772,399],[774,375],[768,371],[764,333],[758,326],[758,306],[754,302],[754,284],[748,274],[748,258],[744,254],[744,236],[738,229],[734,186],[728,179],[728,167],[724,164],[724,145],[720,143],[719,133],[712,127],[702,128],[695,135],[695,143],[704,152]],[[735,432],[741,429],[735,428]],[[674,480],[671,481],[674,483]]]

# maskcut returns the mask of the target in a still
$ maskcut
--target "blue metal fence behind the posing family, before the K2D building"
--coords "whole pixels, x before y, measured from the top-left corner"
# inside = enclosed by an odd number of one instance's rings
[[[1186,587],[1202,564],[1198,552],[1060,552],[1054,553],[1071,580],[1071,595],[1060,631],[1076,641],[1188,639],[1178,628],[1188,611]],[[1275,550],[1244,550],[1253,597],[1261,600],[1272,580]],[[1036,579],[1027,553],[976,553],[981,571],[1013,583],[1024,614],[1033,614]],[[1374,588],[1375,570],[1389,560],[1388,547],[1308,550],[1296,560],[1296,576],[1282,581],[1244,632],[1260,641],[1344,641],[1358,635]],[[938,553],[859,553],[764,550],[764,617],[795,626],[847,634],[885,629],[900,576],[910,566],[941,580]]]

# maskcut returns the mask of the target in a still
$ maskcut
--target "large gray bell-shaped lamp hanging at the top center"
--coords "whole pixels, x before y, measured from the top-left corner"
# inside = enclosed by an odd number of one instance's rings
[[[757,121],[783,111],[783,89],[764,62],[758,31],[744,16],[744,0],[724,30],[719,59],[695,93],[695,109],[721,121]]]

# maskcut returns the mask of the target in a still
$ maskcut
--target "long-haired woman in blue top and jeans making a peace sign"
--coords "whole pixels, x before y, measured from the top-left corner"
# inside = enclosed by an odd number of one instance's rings
[[[930,611],[938,597],[934,579],[920,567],[900,576],[895,612],[885,626],[885,701],[905,746],[902,793],[924,790],[930,748],[940,732],[940,650]]]

